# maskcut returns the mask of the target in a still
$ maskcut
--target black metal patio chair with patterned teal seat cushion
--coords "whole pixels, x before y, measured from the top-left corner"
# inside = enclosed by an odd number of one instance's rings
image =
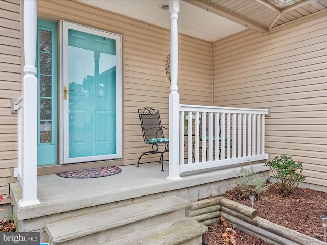
[[[138,109],[138,115],[141,122],[143,141],[151,145],[152,150],[142,153],[138,159],[137,167],[139,167],[139,161],[144,155],[160,153],[159,163],[161,163],[161,171],[164,171],[164,153],[168,152],[169,139],[165,138],[163,130],[165,127],[161,125],[159,111],[146,107]],[[164,149],[159,149],[160,145],[164,146]]]

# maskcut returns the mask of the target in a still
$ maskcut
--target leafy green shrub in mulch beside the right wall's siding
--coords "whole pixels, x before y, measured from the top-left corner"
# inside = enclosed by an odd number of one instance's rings
[[[291,156],[281,155],[280,158],[276,156],[265,163],[265,166],[269,166],[272,170],[283,197],[287,197],[300,182],[306,179],[306,176],[302,175],[302,163],[300,161],[295,163]]]

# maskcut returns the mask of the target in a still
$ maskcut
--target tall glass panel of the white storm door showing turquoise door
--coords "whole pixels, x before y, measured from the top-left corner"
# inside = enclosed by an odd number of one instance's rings
[[[116,41],[73,29],[68,38],[69,158],[116,154]]]

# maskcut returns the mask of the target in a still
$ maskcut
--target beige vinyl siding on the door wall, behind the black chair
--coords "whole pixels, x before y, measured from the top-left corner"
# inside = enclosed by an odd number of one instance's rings
[[[170,31],[74,1],[39,0],[38,17],[66,20],[123,35],[123,160],[135,164],[150,150],[143,143],[138,108],[160,110],[168,128],[170,82],[165,61]],[[181,103],[212,105],[212,43],[179,35],[179,93]],[[168,130],[165,131],[168,136]],[[168,155],[168,154],[167,154]],[[145,156],[146,161],[158,161]]]

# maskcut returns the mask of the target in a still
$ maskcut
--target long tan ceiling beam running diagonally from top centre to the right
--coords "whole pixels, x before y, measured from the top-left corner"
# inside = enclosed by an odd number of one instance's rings
[[[261,33],[268,33],[268,28],[261,26],[260,24],[254,22],[254,21],[244,18],[239,14],[233,13],[227,9],[224,9],[224,8],[222,8],[216,4],[213,4],[211,2],[208,2],[206,0],[184,0],[184,1],[187,3],[193,4],[199,8],[205,9],[208,12],[212,12],[212,13],[222,16],[226,19],[229,19],[229,20],[232,20],[239,24],[242,24],[242,26],[245,26],[247,28],[260,31]]]

